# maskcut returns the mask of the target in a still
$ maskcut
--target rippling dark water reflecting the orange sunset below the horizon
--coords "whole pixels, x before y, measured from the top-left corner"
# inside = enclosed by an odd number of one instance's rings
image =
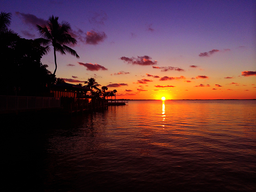
[[[1,191],[256,191],[256,100],[130,101],[2,122]]]

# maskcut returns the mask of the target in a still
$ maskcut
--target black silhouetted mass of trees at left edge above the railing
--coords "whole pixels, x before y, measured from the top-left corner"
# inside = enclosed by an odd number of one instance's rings
[[[48,96],[55,75],[41,63],[46,50],[8,29],[11,13],[0,15],[0,95]]]

